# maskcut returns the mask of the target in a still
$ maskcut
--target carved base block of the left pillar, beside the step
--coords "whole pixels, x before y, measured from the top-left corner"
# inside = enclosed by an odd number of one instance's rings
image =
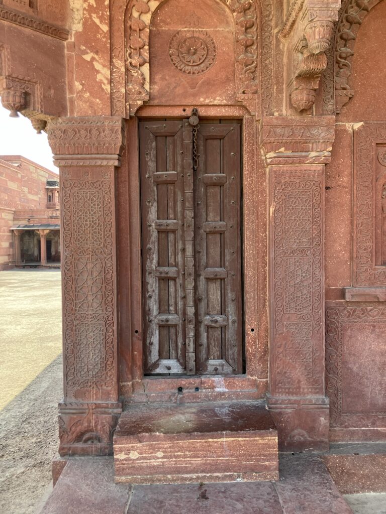
[[[59,403],[59,454],[112,455],[119,402]]]

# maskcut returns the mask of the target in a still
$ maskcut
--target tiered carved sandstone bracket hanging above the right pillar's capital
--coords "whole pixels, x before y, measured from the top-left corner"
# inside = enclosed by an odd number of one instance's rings
[[[314,104],[339,8],[340,0],[295,0],[279,33],[287,60],[286,90],[296,112]]]

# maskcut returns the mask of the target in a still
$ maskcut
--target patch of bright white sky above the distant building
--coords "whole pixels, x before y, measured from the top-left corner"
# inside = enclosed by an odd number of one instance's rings
[[[21,114],[10,118],[9,111],[0,103],[0,155],[22,155],[55,173],[47,134],[37,134],[29,119]]]

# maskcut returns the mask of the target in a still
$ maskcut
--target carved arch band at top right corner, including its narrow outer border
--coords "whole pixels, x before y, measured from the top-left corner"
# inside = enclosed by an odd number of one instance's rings
[[[324,79],[324,104],[328,114],[340,113],[354,96],[350,75],[355,43],[360,26],[370,11],[382,0],[345,0],[339,11],[335,44],[327,54],[328,66]]]

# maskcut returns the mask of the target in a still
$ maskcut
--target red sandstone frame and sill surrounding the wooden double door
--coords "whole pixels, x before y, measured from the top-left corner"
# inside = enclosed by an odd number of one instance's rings
[[[259,123],[242,106],[195,106],[201,119],[239,120],[242,132],[242,292],[245,372],[242,375],[144,376],[141,187],[138,121],[187,119],[194,106],[144,106],[126,120],[126,146],[117,169],[118,343],[121,395],[127,401],[263,398],[268,389],[267,178]],[[198,398],[198,395],[200,398]],[[181,393],[179,394],[181,396]],[[196,399],[195,399],[196,398]]]

